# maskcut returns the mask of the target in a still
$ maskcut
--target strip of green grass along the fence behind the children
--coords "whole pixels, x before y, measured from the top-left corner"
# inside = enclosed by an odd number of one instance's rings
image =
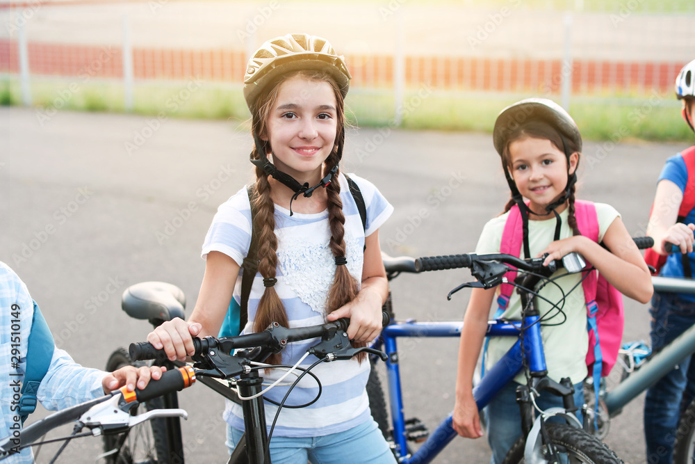
[[[124,113],[124,92],[116,83],[33,81],[33,106],[50,115],[61,109]],[[436,92],[426,88],[404,96],[403,129],[490,132],[500,111],[528,95]],[[692,142],[692,131],[680,118],[678,102],[671,95],[573,97],[570,113],[587,140]],[[557,98],[555,98],[557,101]],[[164,113],[172,118],[234,119],[250,117],[240,86],[225,88],[136,86],[133,111],[140,115]],[[19,82],[0,79],[0,104],[22,103]],[[348,120],[358,127],[395,127],[395,104],[390,90],[354,89],[347,97]]]

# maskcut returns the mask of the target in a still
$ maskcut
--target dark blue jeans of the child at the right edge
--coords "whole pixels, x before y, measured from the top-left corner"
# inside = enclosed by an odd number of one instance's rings
[[[651,343],[654,353],[695,323],[695,303],[676,294],[657,293],[652,298]],[[695,398],[692,357],[647,390],[644,400],[644,436],[648,464],[670,464],[682,400]],[[687,406],[687,403],[685,404]]]

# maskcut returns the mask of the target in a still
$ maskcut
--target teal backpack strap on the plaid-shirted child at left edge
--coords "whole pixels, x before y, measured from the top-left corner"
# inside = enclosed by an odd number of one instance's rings
[[[53,352],[56,348],[51,330],[48,328],[39,305],[32,300],[34,312],[31,317],[31,332],[29,333],[28,346],[26,349],[26,372],[24,373],[24,383],[19,399],[19,417],[22,424],[26,417],[36,409],[36,394],[39,385],[51,366]]]

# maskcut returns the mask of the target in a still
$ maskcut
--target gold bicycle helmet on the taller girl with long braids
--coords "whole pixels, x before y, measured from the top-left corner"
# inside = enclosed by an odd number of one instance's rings
[[[244,76],[244,98],[251,109],[268,84],[282,74],[297,70],[328,72],[343,98],[350,88],[350,71],[345,59],[324,38],[309,34],[287,34],[265,42],[249,60]]]

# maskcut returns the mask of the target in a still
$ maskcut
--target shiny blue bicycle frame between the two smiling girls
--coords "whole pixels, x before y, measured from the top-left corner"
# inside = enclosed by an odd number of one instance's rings
[[[539,316],[524,319],[524,351],[532,373],[546,372],[546,358],[541,341],[541,325],[537,323]],[[375,341],[373,348],[384,351],[389,359],[386,360],[386,371],[389,377],[389,399],[391,401],[391,418],[393,421],[393,438],[399,462],[430,463],[453,440],[457,433],[452,426],[452,414],[437,426],[418,451],[412,456],[407,451],[406,424],[403,414],[403,399],[400,384],[400,369],[398,367],[398,337],[461,337],[463,322],[416,322],[406,321],[394,323],[382,330],[382,335]],[[518,340],[509,351],[489,371],[486,372],[477,387],[473,397],[478,409],[484,408],[489,401],[518,374],[523,368],[521,353],[521,338],[519,333],[521,323],[490,321],[487,335],[495,337],[517,337]]]

